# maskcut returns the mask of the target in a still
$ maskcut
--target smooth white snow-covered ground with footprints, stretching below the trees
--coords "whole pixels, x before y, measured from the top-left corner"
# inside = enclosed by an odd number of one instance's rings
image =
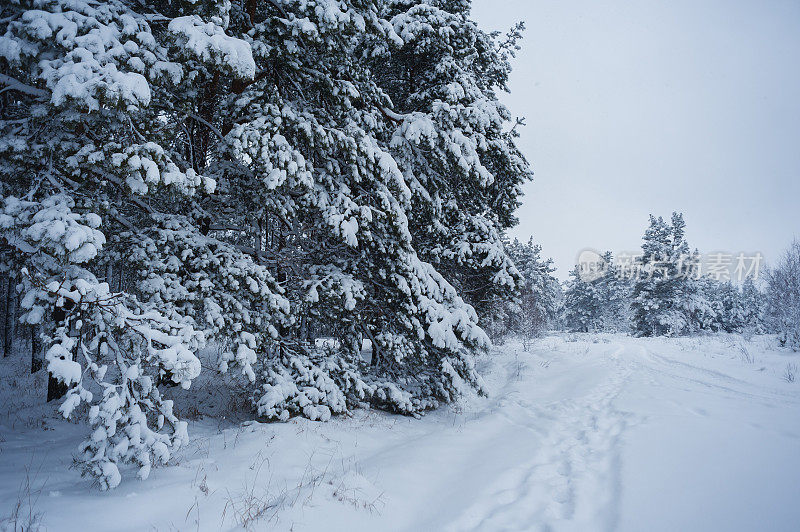
[[[34,424],[20,399],[0,410],[0,516],[19,503],[21,521],[81,531],[797,530],[800,382],[786,372],[800,357],[773,345],[510,343],[479,361],[488,397],[422,419],[201,418],[174,466],[103,493],[67,469],[84,429]]]

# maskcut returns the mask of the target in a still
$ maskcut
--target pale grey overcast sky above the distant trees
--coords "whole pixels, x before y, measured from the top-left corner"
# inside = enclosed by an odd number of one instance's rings
[[[800,2],[474,0],[527,29],[502,100],[535,172],[512,236],[566,278],[684,213],[701,252],[774,259],[800,236]]]

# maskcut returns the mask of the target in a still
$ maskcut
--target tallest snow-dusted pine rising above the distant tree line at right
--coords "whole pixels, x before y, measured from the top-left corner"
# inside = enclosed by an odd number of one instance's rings
[[[683,215],[670,222],[650,216],[644,233],[641,274],[632,291],[634,333],[638,336],[680,335],[697,330],[697,315],[705,315],[708,301],[698,290],[698,253],[690,253]]]

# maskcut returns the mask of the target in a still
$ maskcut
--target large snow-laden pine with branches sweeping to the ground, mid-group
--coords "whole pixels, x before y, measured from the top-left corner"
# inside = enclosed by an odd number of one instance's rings
[[[413,181],[426,170],[389,149],[405,117],[372,70],[386,68],[404,40],[379,16],[382,2],[263,7],[243,18],[242,36],[264,70],[231,96],[233,116],[223,119],[233,125],[213,174],[218,197],[230,194],[225,203],[255,220],[253,245],[303,309],[286,331],[291,341],[265,364],[259,412],[327,417],[355,402],[416,412],[450,400],[477,384],[469,353],[487,337],[410,231]],[[343,346],[324,360],[297,341],[323,326]],[[362,338],[372,344],[370,367]],[[322,375],[326,389],[315,390]]]

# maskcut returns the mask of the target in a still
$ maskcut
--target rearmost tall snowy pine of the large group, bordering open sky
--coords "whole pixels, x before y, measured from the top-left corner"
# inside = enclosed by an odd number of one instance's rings
[[[389,144],[411,191],[410,232],[420,256],[488,319],[518,281],[502,233],[531,175],[496,96],[522,26],[500,40],[469,19],[465,0],[384,6],[402,44],[374,70],[393,105]]]

